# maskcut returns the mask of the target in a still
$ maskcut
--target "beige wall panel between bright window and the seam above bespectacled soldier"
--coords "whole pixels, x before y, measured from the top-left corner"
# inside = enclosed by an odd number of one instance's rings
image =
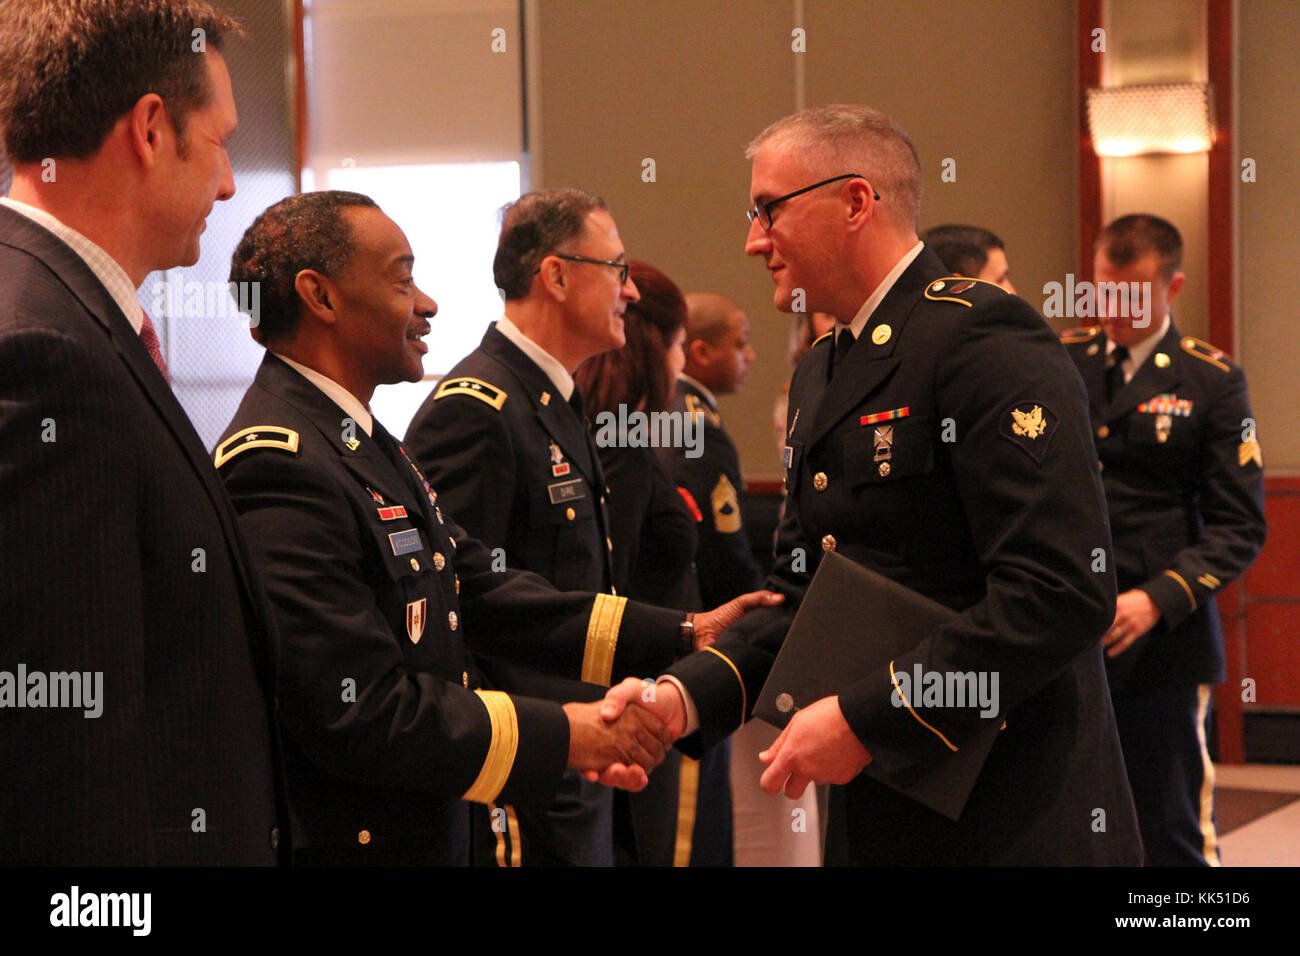
[[[744,254],[745,143],[793,109],[792,4],[543,0],[537,187],[604,196],[628,255],[686,291],[712,289],[750,315],[758,362],[723,414],[749,477],[780,471],[772,399],[786,376],[788,317]],[[642,181],[642,161],[655,182]]]

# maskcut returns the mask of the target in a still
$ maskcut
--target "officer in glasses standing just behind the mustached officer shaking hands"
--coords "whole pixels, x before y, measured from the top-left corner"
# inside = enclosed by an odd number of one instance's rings
[[[614,593],[607,489],[573,369],[623,345],[623,312],[638,299],[627,268],[599,198],[547,190],[514,203],[493,263],[506,312],[407,429],[456,520],[500,549],[502,566],[562,589]],[[608,684],[595,670],[573,680],[526,662],[484,666],[495,685],[551,700],[599,700]],[[521,810],[520,829],[524,865],[614,862],[614,795],[576,774],[549,810]]]

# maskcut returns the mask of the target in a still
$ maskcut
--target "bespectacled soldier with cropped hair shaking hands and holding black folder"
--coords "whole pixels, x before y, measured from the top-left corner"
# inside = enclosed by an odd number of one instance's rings
[[[651,702],[684,748],[749,717],[792,611],[836,550],[959,611],[915,649],[794,714],[763,787],[833,783],[827,855],[854,864],[1136,864],[1136,821],[1101,661],[1114,576],[1086,397],[1026,302],[952,278],[916,239],[906,133],[855,105],[774,124],[754,159],[746,252],[779,308],[838,316],[790,388],[789,501],[762,609],[670,669]],[[870,640],[871,622],[850,633]],[[998,682],[996,715],[898,675]],[[616,691],[607,713],[616,713]],[[918,779],[1005,722],[958,819]],[[950,788],[949,788],[950,790]]]

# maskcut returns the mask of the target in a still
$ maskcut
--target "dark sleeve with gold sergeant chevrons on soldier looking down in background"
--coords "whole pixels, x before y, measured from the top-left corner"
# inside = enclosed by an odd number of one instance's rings
[[[1216,376],[1217,394],[1200,436],[1197,498],[1202,528],[1167,568],[1138,585],[1169,627],[1230,584],[1264,546],[1264,459],[1254,433],[1245,373],[1232,365]]]

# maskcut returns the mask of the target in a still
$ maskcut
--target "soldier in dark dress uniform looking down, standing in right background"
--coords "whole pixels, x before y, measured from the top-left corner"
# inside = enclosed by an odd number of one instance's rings
[[[1182,252],[1173,224],[1117,219],[1097,238],[1101,325],[1062,341],[1088,389],[1110,509],[1119,597],[1106,672],[1143,845],[1157,866],[1217,866],[1214,596],[1264,545],[1264,459],[1245,375],[1170,319]]]

